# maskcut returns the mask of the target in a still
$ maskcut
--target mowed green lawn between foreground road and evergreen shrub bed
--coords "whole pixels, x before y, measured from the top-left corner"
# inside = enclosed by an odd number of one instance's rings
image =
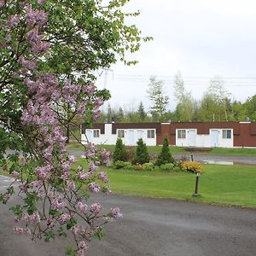
[[[256,207],[256,166],[204,167],[198,198],[192,197],[193,173],[106,170],[111,188],[117,194]]]

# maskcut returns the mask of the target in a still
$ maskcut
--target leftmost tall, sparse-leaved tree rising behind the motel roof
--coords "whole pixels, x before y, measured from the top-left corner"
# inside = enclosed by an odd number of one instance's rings
[[[157,122],[165,120],[166,108],[169,103],[169,97],[164,95],[163,84],[163,81],[157,80],[156,77],[151,77],[147,90],[149,99],[153,102],[153,106],[150,107],[150,113],[154,121]]]

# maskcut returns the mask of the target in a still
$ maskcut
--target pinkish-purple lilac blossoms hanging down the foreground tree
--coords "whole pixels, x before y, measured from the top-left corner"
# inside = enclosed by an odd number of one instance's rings
[[[45,0],[38,0],[38,5],[41,6],[44,2]],[[0,8],[5,5],[8,5],[8,1],[0,0]],[[23,80],[27,90],[26,108],[22,111],[20,125],[24,129],[24,139],[32,145],[32,152],[29,157],[20,160],[19,166],[30,177],[22,177],[19,169],[18,172],[11,172],[11,175],[16,180],[20,179],[20,196],[25,199],[32,195],[35,201],[38,198],[38,202],[43,202],[43,211],[35,210],[31,214],[24,211],[22,217],[19,216],[16,220],[23,222],[26,228],[15,226],[14,230],[16,234],[37,238],[56,225],[67,224],[69,221],[72,223],[73,219],[82,218],[83,225],[73,224],[71,228],[75,240],[79,241],[77,254],[82,256],[88,250],[86,241],[90,241],[90,237],[106,223],[110,215],[113,218],[122,217],[119,208],[113,208],[111,213],[100,216],[100,203],[86,204],[88,190],[111,193],[106,184],[107,173],[97,173],[100,164],[108,165],[110,153],[89,143],[84,152],[89,162],[86,172],[82,167],[73,170],[76,159],[67,154],[65,147],[67,137],[64,131],[67,125],[86,111],[92,111],[92,118],[97,119],[103,98],[96,96],[96,86],[93,84],[77,84],[71,80],[60,82],[53,73],[35,72],[40,66],[39,61],[42,61],[39,57],[50,49],[50,44],[44,39],[47,14],[42,10],[44,8],[33,9],[32,5],[23,1],[20,2],[20,9],[20,14],[7,18],[4,25],[6,35],[4,41],[0,42],[0,48],[13,50],[11,43],[15,40],[15,32],[23,26],[22,40],[25,42],[22,44],[26,45],[26,50],[17,54],[20,71],[15,71],[14,77]],[[67,117],[66,106],[69,106],[71,119]],[[3,169],[8,171],[9,168],[3,166]],[[101,183],[104,183],[102,188]],[[3,202],[9,201],[9,196],[9,193],[5,193]],[[46,207],[48,210],[45,210]],[[29,225],[33,228],[29,229]]]

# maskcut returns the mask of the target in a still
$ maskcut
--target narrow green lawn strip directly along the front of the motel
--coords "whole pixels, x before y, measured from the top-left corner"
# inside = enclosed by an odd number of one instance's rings
[[[114,145],[100,145],[99,148],[106,148],[113,151]],[[136,147],[129,147],[136,148]],[[148,146],[150,154],[160,153],[161,146]],[[77,142],[70,142],[67,145],[69,150],[84,150],[84,146]],[[182,147],[170,147],[172,154],[189,154],[189,151],[184,150]],[[237,155],[237,156],[256,156],[256,148],[213,148],[212,151],[201,152],[200,154],[215,154],[215,155]]]

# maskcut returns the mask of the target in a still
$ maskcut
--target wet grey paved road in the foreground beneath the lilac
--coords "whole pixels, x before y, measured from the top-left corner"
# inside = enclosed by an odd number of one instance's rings
[[[0,177],[6,186],[8,178]],[[0,187],[0,192],[3,187]],[[119,206],[124,218],[107,226],[107,236],[90,245],[90,256],[254,256],[256,210],[184,201],[94,195],[105,207]],[[16,201],[16,200],[15,200]],[[12,233],[8,207],[0,206],[0,255],[63,255],[67,240],[45,246]]]

